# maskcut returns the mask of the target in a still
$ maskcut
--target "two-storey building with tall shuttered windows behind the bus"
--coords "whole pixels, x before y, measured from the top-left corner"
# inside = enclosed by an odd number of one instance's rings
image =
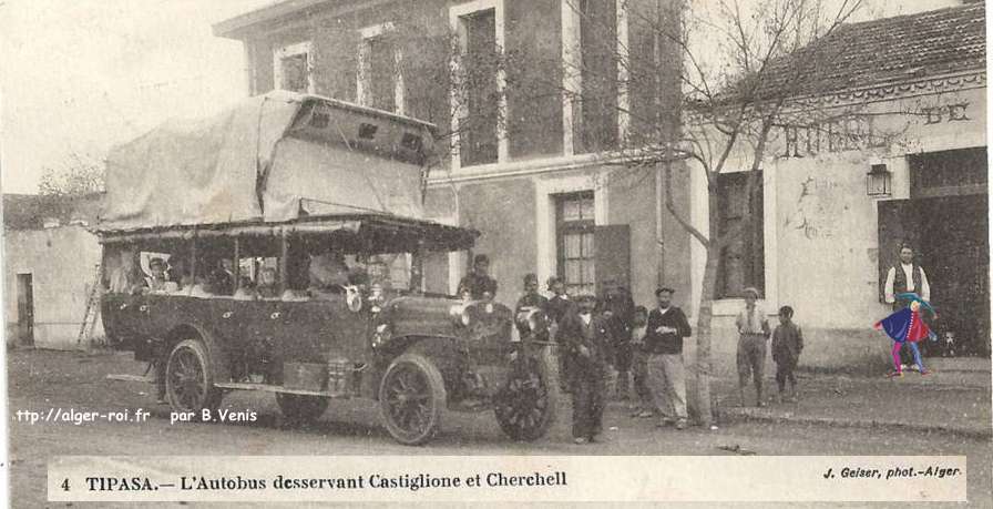
[[[424,214],[482,232],[474,253],[491,259],[498,301],[514,303],[535,273],[573,293],[616,279],[641,303],[665,282],[688,304],[688,236],[655,166],[621,150],[678,122],[678,51],[639,21],[673,22],[675,4],[289,1],[214,31],[244,41],[254,94],[310,92],[434,123],[450,150],[430,170]],[[686,213],[687,184],[674,183]],[[471,255],[430,256],[427,289],[454,293]]]

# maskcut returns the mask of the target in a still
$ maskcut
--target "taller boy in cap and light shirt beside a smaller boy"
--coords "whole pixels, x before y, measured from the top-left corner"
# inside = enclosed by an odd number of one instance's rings
[[[745,288],[745,309],[738,313],[738,398],[745,406],[745,387],[748,378],[755,383],[755,406],[762,407],[762,374],[766,366],[766,340],[771,329],[766,312],[756,304],[759,294],[756,288]]]

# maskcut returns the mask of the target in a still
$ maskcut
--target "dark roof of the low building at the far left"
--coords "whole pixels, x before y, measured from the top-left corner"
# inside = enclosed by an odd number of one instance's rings
[[[4,230],[41,230],[49,220],[60,224],[82,221],[95,225],[103,193],[83,196],[42,196],[38,194],[3,195]]]

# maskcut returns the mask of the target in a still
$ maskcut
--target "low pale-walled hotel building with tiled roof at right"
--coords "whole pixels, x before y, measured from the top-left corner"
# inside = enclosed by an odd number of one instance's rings
[[[798,99],[820,124],[778,128],[762,162],[761,221],[753,242],[721,257],[714,352],[734,366],[734,316],[743,286],[764,293],[770,319],[796,309],[807,343],[802,364],[884,365],[890,340],[872,324],[892,312],[888,269],[904,243],[930,282],[939,333],[979,355],[990,352],[985,6],[962,6],[843,28],[830,93]],[[785,115],[788,116],[788,115]],[[751,154],[728,163],[740,179]],[[692,216],[707,228],[706,182],[692,170]],[[723,186],[729,195],[735,185]],[[734,221],[727,200],[721,221]],[[697,302],[706,254],[692,248]]]

